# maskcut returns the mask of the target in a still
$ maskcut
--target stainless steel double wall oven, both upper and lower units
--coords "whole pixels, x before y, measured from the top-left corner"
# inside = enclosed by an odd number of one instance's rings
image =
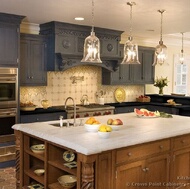
[[[18,121],[18,69],[0,67],[0,135],[13,134]]]

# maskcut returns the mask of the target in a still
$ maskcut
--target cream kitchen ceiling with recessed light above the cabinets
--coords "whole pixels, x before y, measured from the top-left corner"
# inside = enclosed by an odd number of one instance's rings
[[[130,6],[127,0],[94,0],[94,25],[129,34]],[[190,0],[135,0],[133,6],[133,37],[160,38],[161,14],[163,14],[163,41],[181,39],[190,44]],[[0,12],[24,15],[24,22],[41,24],[49,21],[92,25],[91,0],[1,0]],[[75,21],[84,17],[84,21]],[[96,31],[96,29],[95,29]],[[185,43],[184,43],[185,45]]]

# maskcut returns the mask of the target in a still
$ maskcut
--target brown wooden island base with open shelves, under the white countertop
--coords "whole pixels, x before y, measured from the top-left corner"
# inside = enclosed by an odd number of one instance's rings
[[[45,189],[63,188],[57,178],[77,177],[73,189],[188,189],[190,188],[190,134],[84,155],[42,138],[15,130],[17,189],[39,183]],[[43,154],[31,151],[44,144]],[[64,164],[64,152],[72,152],[77,167]],[[34,170],[44,168],[37,176]]]

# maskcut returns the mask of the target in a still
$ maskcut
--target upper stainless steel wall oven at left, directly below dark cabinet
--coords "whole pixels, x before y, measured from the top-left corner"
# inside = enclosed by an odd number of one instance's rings
[[[0,108],[14,108],[18,103],[18,69],[0,67]]]

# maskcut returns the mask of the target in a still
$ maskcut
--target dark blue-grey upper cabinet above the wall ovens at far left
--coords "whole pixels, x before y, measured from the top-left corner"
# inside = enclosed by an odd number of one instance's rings
[[[0,13],[0,66],[18,67],[20,23],[24,16]]]

